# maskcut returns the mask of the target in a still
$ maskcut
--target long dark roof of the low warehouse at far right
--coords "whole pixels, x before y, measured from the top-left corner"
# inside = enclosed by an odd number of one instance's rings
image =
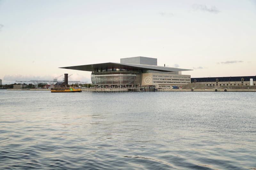
[[[214,82],[216,79],[218,81],[241,81],[241,79],[244,78],[244,81],[250,81],[250,79],[253,79],[253,81],[256,81],[256,76],[238,76],[238,77],[201,77],[201,78],[191,78],[191,82],[194,82],[196,79],[196,82]]]

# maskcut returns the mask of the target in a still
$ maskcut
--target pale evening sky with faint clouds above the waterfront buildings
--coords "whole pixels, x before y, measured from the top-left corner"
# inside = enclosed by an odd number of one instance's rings
[[[59,67],[136,56],[191,77],[252,76],[255,30],[256,0],[0,0],[0,79],[91,82]]]

